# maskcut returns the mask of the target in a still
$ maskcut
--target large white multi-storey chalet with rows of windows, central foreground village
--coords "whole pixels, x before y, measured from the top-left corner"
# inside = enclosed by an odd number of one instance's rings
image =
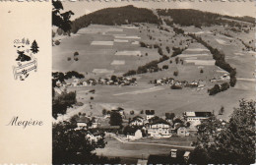
[[[154,121],[149,125],[148,134],[153,138],[169,138],[170,124],[163,119]]]

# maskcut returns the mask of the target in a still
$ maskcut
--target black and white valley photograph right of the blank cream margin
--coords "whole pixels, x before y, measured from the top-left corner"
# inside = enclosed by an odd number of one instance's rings
[[[52,1],[51,32],[53,164],[255,163],[254,2]]]

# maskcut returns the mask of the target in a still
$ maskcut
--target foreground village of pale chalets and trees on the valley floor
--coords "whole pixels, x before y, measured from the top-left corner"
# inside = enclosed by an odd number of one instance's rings
[[[127,119],[126,116],[135,116]],[[111,117],[112,116],[112,117]],[[170,138],[195,137],[197,126],[203,120],[212,116],[211,112],[184,112],[182,116],[174,113],[165,113],[164,117],[155,115],[155,110],[142,110],[140,114],[134,115],[134,111],[126,114],[124,109],[118,107],[112,110],[102,110],[101,116],[90,116],[79,113],[72,117],[77,124],[77,130],[92,131],[91,139],[97,140],[100,133],[113,134],[116,138],[124,141],[137,140],[141,138]],[[113,119],[114,117],[114,119]],[[118,120],[119,123],[111,122]]]

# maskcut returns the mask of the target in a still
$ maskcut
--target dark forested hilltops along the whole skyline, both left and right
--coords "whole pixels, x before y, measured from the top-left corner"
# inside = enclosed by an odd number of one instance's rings
[[[241,23],[235,21],[255,24],[254,18],[248,16],[231,17],[194,9],[158,9],[157,12],[160,16],[170,17],[171,22],[167,21],[167,25],[178,24],[184,27],[210,27],[214,25],[228,25],[230,27],[244,26]],[[152,10],[146,8],[136,8],[132,5],[129,5],[124,7],[101,9],[94,13],[82,16],[72,22],[71,32],[76,33],[80,28],[88,27],[90,24],[120,26],[134,23],[149,23],[160,25],[161,21]]]

